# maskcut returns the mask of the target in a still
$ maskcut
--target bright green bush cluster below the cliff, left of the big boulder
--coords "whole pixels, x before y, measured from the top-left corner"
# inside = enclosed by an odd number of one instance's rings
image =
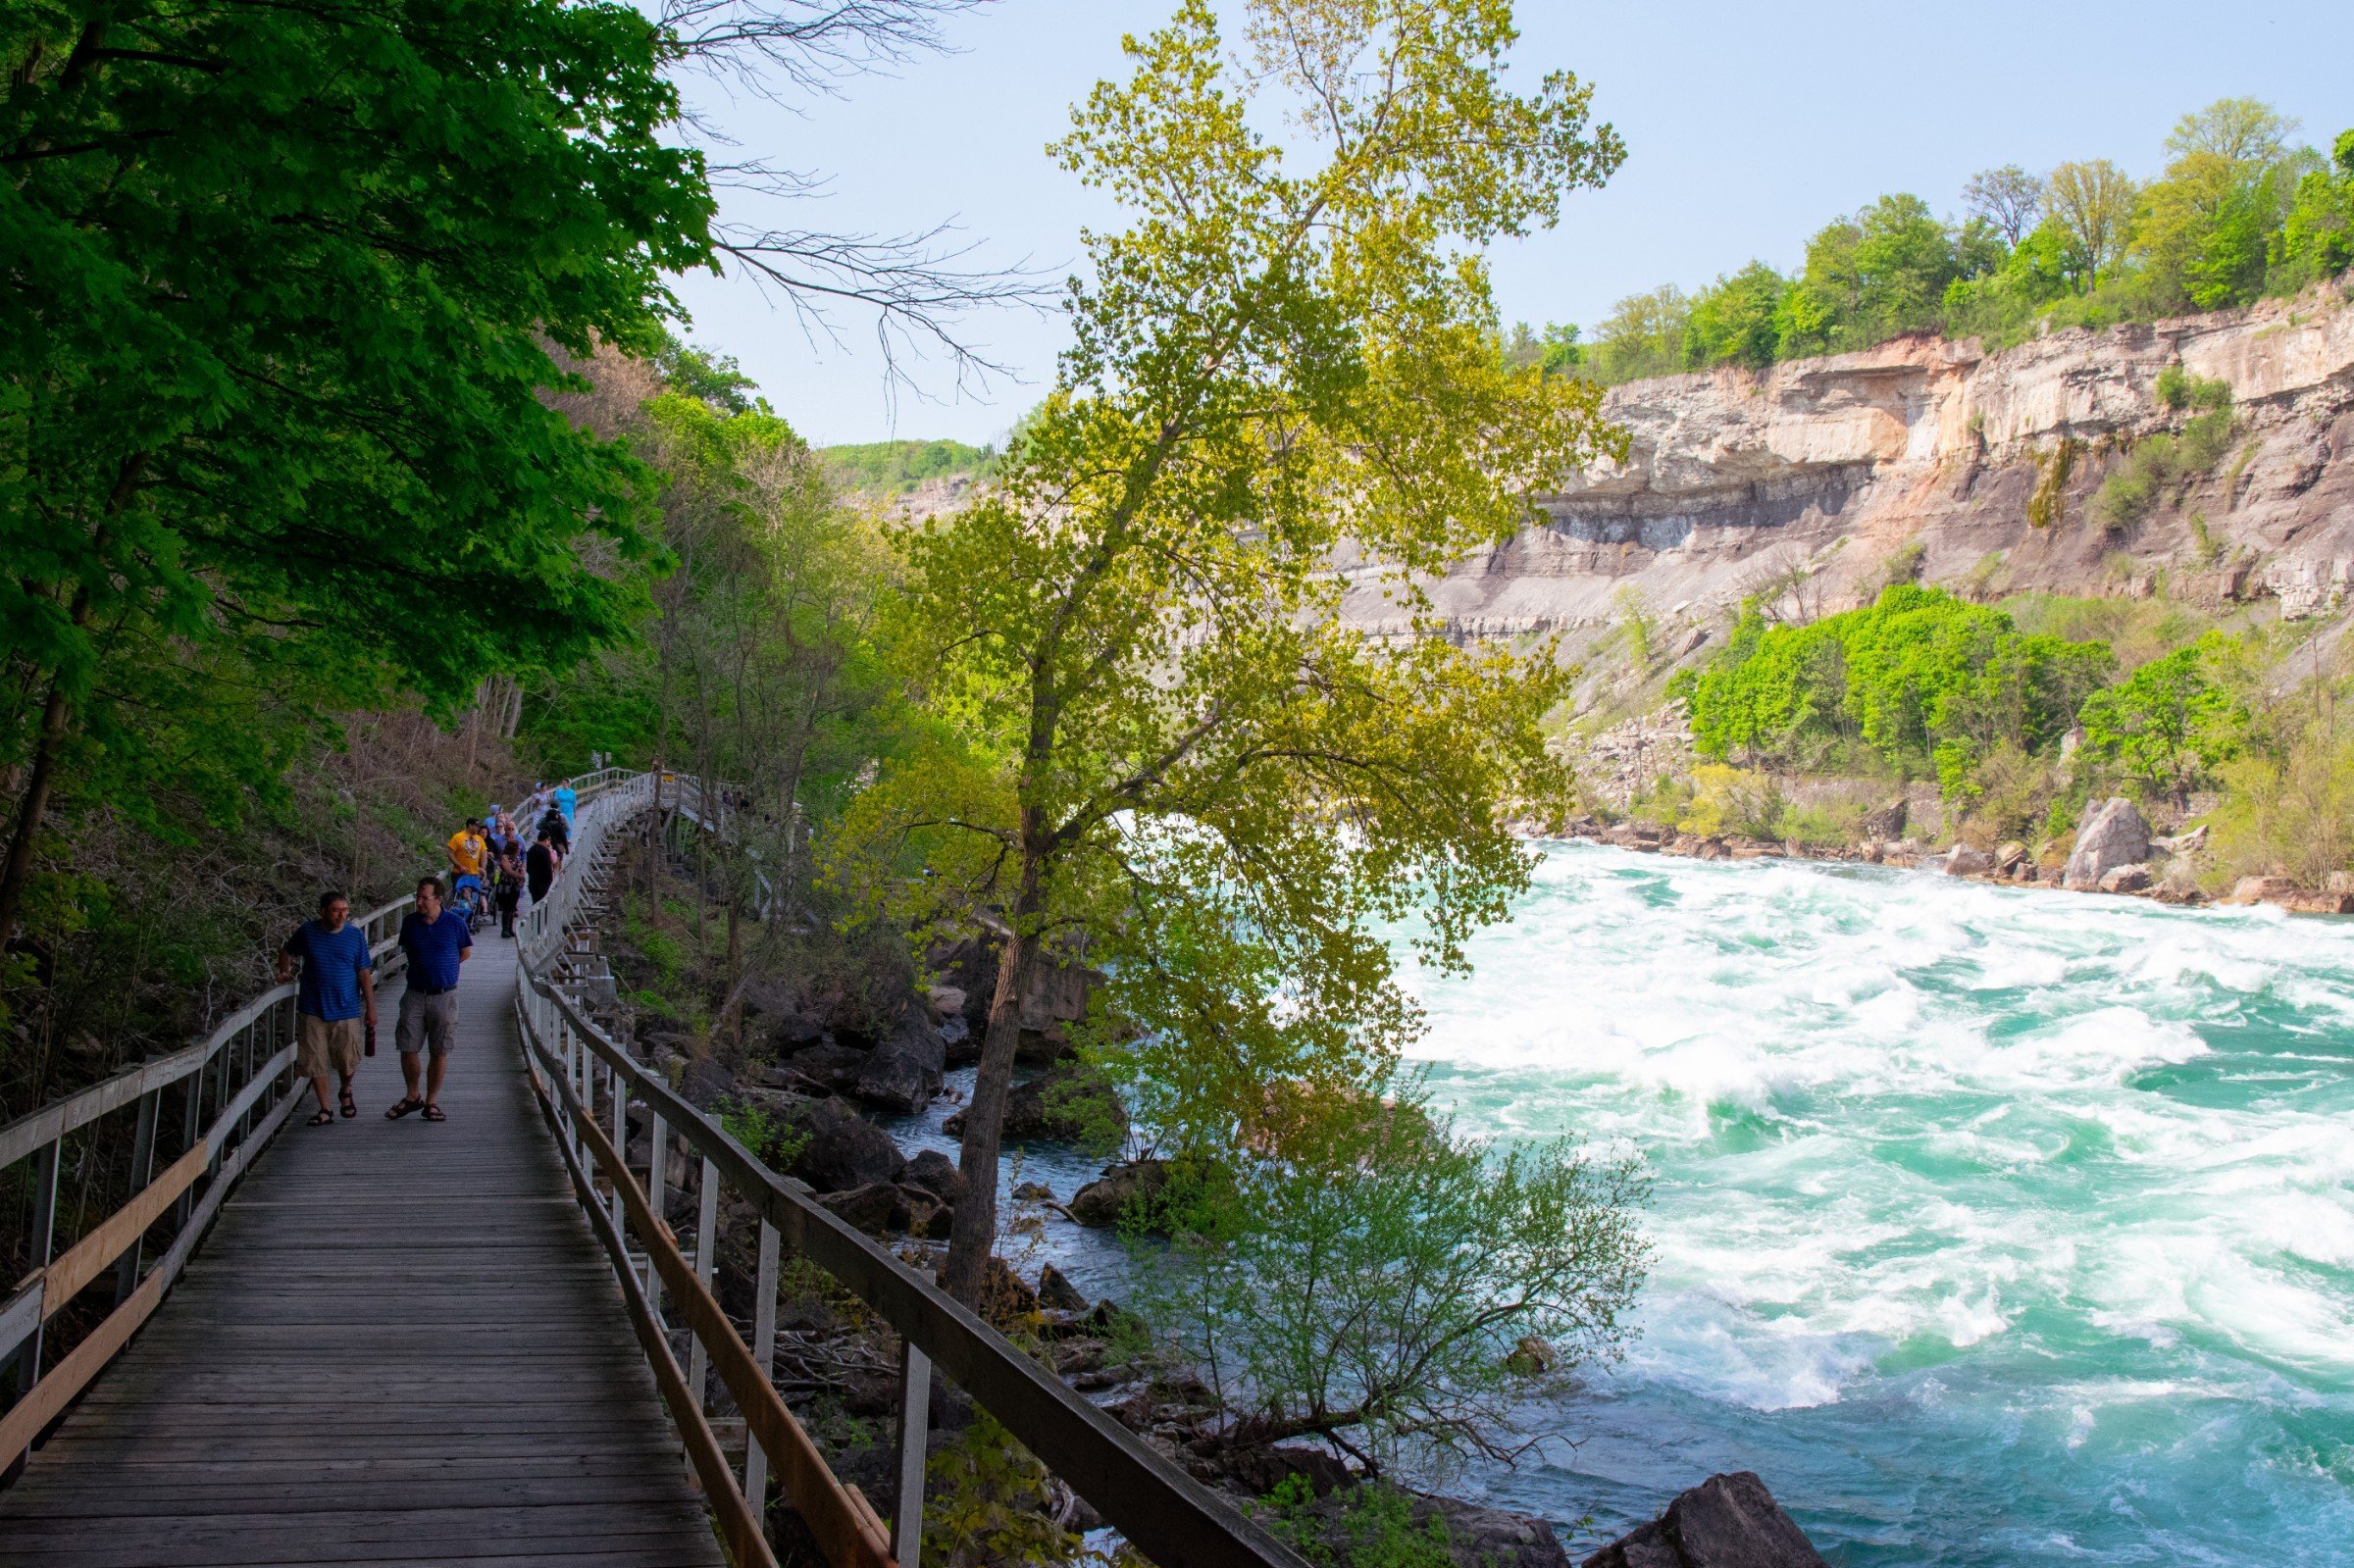
[[[1874,756],[1902,777],[1949,775],[2001,739],[2057,742],[2112,655],[2024,636],[2001,610],[1897,584],[1864,610],[1768,626],[1744,607],[1690,683],[1702,756],[1791,763]]]

